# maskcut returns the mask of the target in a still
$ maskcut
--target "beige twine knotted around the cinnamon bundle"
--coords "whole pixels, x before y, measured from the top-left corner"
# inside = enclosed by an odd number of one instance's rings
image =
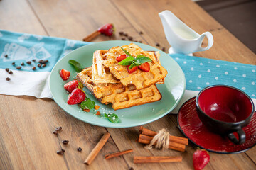
[[[166,129],[161,129],[157,135],[146,146],[147,149],[152,149],[155,146],[157,149],[168,149],[169,147],[169,132]],[[156,145],[154,145],[156,144]]]

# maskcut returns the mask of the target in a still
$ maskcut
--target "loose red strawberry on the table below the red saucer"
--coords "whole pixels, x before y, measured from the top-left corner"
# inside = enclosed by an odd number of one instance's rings
[[[203,169],[210,161],[210,155],[204,149],[197,149],[193,153],[193,167],[195,170]]]

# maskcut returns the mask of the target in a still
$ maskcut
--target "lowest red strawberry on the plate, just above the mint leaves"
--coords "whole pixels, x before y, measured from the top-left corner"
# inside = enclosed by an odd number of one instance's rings
[[[82,101],[85,100],[85,92],[82,91],[80,88],[76,88],[75,90],[72,91],[70,96],[68,97],[68,104],[69,105],[74,105],[81,103]]]

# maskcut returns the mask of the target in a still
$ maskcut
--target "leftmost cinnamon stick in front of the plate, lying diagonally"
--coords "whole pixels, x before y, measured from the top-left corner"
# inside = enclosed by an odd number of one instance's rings
[[[90,154],[88,155],[87,159],[85,159],[84,164],[91,164],[93,159],[95,159],[95,157],[97,156],[97,154],[100,152],[100,150],[102,149],[102,147],[105,145],[105,143],[107,142],[108,138],[110,138],[110,133],[107,132],[105,133],[102,138],[100,139],[100,141],[97,143],[97,145],[95,146],[95,148],[92,149],[92,152],[90,152]]]

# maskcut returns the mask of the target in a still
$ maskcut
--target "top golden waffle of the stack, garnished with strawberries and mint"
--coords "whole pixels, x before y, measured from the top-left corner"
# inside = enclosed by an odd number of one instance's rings
[[[137,69],[137,71],[129,74],[127,72],[127,66],[119,65],[116,60],[119,55],[124,55],[121,47],[113,47],[108,50],[108,52],[105,54],[107,57],[102,64],[108,67],[114,77],[119,79],[124,86],[133,84],[136,86],[136,89],[140,90],[151,86],[152,84],[155,84],[166,77],[166,69],[164,69],[159,62],[157,62],[156,58],[152,56],[151,52],[143,51],[139,46],[134,45],[133,43],[130,45],[124,45],[122,47],[133,56],[145,55],[146,57],[150,57],[152,60],[152,62],[149,62],[149,72],[143,72],[142,70]]]

